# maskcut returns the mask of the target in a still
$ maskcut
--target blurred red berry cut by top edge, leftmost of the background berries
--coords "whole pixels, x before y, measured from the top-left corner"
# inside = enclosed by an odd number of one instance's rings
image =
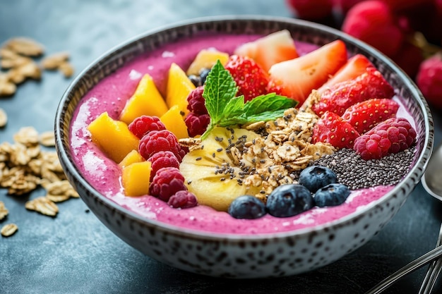
[[[333,0],[286,0],[298,18],[317,20],[330,16],[333,9]]]

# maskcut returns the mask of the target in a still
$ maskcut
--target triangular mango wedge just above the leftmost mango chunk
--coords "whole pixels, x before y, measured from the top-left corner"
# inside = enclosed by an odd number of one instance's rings
[[[138,116],[162,116],[169,109],[160,92],[153,82],[153,78],[146,73],[138,82],[132,97],[126,102],[121,111],[120,121],[131,123]]]

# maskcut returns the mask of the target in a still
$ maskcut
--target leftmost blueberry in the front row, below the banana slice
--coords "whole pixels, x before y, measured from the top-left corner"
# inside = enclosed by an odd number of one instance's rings
[[[264,203],[250,195],[239,196],[233,200],[228,212],[235,219],[259,219],[266,214]]]

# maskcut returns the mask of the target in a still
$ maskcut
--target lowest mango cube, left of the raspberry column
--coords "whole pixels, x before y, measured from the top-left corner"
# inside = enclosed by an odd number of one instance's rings
[[[141,196],[149,194],[150,161],[135,162],[125,166],[121,172],[121,184],[126,196]]]

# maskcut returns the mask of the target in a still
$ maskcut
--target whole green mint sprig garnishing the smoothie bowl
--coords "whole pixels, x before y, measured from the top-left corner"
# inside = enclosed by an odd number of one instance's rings
[[[237,92],[237,83],[218,60],[205,80],[203,97],[210,123],[201,135],[201,140],[204,140],[216,126],[227,127],[271,121],[283,116],[285,109],[298,104],[297,101],[276,93],[261,95],[244,103],[243,95],[235,97]]]

